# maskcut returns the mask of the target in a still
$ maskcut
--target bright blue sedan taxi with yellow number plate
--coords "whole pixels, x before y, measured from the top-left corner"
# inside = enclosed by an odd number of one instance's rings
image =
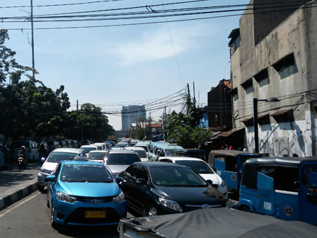
[[[62,161],[45,179],[51,225],[117,225],[127,216],[125,195],[98,162]],[[120,178],[117,179],[120,181]]]

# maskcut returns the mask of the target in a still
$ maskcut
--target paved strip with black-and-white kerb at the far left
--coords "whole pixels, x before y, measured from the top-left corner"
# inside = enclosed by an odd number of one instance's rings
[[[38,164],[28,164],[26,169],[18,169],[17,164],[11,164],[9,169],[0,170],[0,210],[37,189],[39,170]]]

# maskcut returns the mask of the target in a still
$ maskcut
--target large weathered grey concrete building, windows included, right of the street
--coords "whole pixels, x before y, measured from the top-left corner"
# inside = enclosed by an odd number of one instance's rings
[[[258,103],[260,152],[308,157],[316,155],[317,1],[275,2],[261,13],[265,1],[250,1],[245,13],[254,14],[241,16],[229,35],[234,128],[246,127],[253,151],[253,98],[277,97]]]

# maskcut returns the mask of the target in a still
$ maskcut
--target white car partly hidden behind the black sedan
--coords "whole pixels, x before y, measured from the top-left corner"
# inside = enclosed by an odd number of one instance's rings
[[[190,158],[190,157],[160,157],[159,162],[169,162],[174,164],[180,164],[188,166],[197,174],[202,176],[204,180],[211,180],[214,187],[217,187],[218,191],[228,198],[228,189],[226,188],[226,182],[212,170],[202,159]]]

